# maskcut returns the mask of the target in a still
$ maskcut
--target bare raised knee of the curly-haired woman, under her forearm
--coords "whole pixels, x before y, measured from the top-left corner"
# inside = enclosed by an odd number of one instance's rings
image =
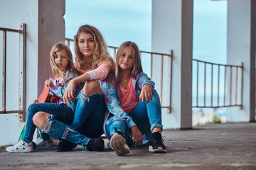
[[[86,95],[102,94],[99,82],[97,80],[86,81],[85,86],[82,88],[82,93]]]

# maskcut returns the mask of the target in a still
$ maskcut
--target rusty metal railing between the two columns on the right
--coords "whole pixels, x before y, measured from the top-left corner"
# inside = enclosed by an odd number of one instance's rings
[[[196,62],[196,104],[192,105],[194,108],[223,108],[231,106],[242,107],[242,65],[230,65],[230,64],[215,64],[212,62],[203,62],[200,60],[193,60],[193,64]],[[203,68],[199,71],[199,64],[203,65]],[[210,72],[207,71],[207,66],[210,66]],[[217,69],[214,77],[213,69]],[[193,71],[195,69],[193,68]],[[235,74],[233,72],[235,71]],[[193,73],[194,74],[194,73]],[[203,74],[203,88],[199,85],[199,75]],[[220,76],[221,74],[221,76]],[[221,77],[221,79],[220,79]],[[201,79],[201,80],[202,80]],[[209,79],[209,81],[207,81]],[[194,79],[193,79],[194,80]],[[210,82],[210,86],[206,84]],[[215,86],[213,83],[215,82]],[[221,82],[221,85],[220,85]],[[210,88],[208,88],[210,87]],[[195,86],[193,86],[193,90]],[[203,103],[199,104],[198,89],[203,89]],[[210,90],[208,90],[210,89]],[[213,90],[215,89],[215,96],[213,97]],[[220,90],[221,89],[221,90]],[[210,103],[206,103],[206,93],[210,92]],[[220,93],[221,92],[221,93]],[[223,102],[220,102],[220,97]],[[213,103],[215,98],[215,104]],[[227,100],[228,99],[228,100]]]

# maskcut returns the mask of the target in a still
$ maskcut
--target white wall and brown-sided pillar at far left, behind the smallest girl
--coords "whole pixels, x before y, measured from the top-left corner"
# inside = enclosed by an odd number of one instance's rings
[[[50,76],[50,47],[55,42],[65,40],[65,0],[0,0],[0,4],[0,27],[18,29],[21,23],[26,23],[27,110],[41,94],[43,82]],[[9,72],[7,76],[12,74],[15,73]],[[16,94],[7,96],[10,101],[13,95]],[[18,121],[18,113],[1,114],[0,146],[17,142],[23,124]]]

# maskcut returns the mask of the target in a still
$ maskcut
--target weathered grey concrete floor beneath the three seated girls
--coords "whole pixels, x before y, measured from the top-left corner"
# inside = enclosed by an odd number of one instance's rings
[[[256,123],[203,125],[193,130],[164,130],[168,153],[133,147],[117,156],[105,152],[0,152],[0,169],[256,169]]]

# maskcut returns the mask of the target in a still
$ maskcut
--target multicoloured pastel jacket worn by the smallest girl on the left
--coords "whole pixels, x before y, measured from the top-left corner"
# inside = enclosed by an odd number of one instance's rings
[[[59,103],[64,103],[63,101],[63,96],[64,96],[64,92],[65,89],[68,86],[68,83],[71,79],[75,79],[75,77],[78,77],[77,75],[73,74],[72,72],[66,72],[65,74],[65,79],[63,80],[62,78],[55,78],[52,79],[51,77],[49,78],[52,83],[53,86],[50,86],[50,93],[54,93],[56,96],[58,96],[60,98]],[[71,101],[71,103],[67,102],[67,105],[75,112],[75,105],[76,105],[76,98],[78,98],[79,92],[81,91],[81,86],[80,84],[76,84],[75,85],[75,90],[74,90],[74,96],[75,96],[75,100]]]

